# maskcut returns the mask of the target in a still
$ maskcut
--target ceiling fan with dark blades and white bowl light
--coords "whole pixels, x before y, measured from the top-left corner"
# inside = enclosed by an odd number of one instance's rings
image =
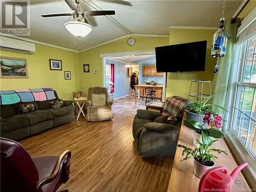
[[[64,27],[72,33],[78,39],[88,35],[93,26],[89,20],[89,16],[98,16],[98,15],[115,15],[115,11],[81,11],[79,7],[79,0],[75,0],[76,5],[72,0],[65,0],[70,9],[74,11],[73,13],[57,13],[57,14],[48,14],[41,15],[42,17],[56,17],[56,16],[73,16],[73,21],[66,22]]]

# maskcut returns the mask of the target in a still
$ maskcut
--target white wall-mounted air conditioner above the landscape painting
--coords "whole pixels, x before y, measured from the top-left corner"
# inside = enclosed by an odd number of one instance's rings
[[[0,36],[0,49],[19,53],[32,54],[35,52],[35,44],[24,40]]]

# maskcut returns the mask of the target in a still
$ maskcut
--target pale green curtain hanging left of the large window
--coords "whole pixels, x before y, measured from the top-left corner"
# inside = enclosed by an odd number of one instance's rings
[[[228,99],[228,92],[231,87],[231,72],[232,72],[232,63],[234,58],[235,52],[235,42],[237,38],[237,29],[240,24],[240,18],[237,18],[237,22],[231,24],[231,18],[227,19],[225,29],[231,35],[231,38],[227,40],[227,49],[225,57],[220,57],[219,62],[219,71],[214,76],[214,92],[218,93],[212,98],[212,103],[218,104],[223,106],[227,109],[227,99]],[[224,116],[223,111],[220,109],[216,110],[218,114]],[[230,110],[229,110],[230,111]]]

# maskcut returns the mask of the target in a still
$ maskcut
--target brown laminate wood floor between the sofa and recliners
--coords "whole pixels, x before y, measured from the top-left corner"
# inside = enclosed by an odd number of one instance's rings
[[[133,117],[112,121],[79,118],[20,141],[32,157],[71,150],[70,179],[59,189],[73,191],[166,191],[171,157],[141,158],[132,136]]]

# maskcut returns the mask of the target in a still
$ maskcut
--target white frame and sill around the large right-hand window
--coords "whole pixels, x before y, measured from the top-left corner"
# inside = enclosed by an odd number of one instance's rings
[[[246,45],[242,45],[243,42],[245,41],[247,41]],[[256,186],[256,166],[253,166],[256,164],[256,159],[254,156],[251,155],[250,152],[248,152],[248,150],[246,149],[242,141],[240,141],[240,139],[236,136],[236,134],[234,134],[234,132],[231,129],[234,123],[233,115],[234,115],[234,106],[236,106],[236,101],[237,101],[238,85],[256,87],[256,83],[241,82],[244,74],[244,69],[245,69],[245,59],[246,59],[245,55],[248,47],[248,39],[244,40],[243,42],[241,42],[239,45],[236,45],[236,46],[240,46],[239,55],[243,54],[244,56],[243,56],[242,62],[239,62],[239,60],[238,62],[235,62],[237,55],[235,56],[233,61],[231,78],[229,82],[229,85],[230,85],[229,98],[227,102],[228,110],[231,112],[232,115],[230,114],[226,115],[225,118],[228,119],[228,122],[224,123],[223,132],[225,134],[225,139],[231,151],[234,154],[234,157],[238,161],[238,164],[241,164],[246,161],[247,163],[249,163],[249,165],[251,165],[250,167],[247,166],[244,168],[244,173],[247,180],[249,180],[249,182],[253,186]]]

